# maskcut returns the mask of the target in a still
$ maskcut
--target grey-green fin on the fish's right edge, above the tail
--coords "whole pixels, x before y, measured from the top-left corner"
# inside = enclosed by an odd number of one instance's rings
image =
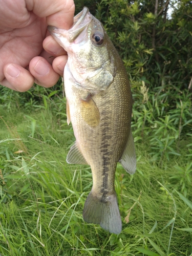
[[[126,146],[124,152],[122,154],[121,159],[119,160],[123,168],[127,173],[134,174],[136,171],[136,154],[135,154],[135,145],[132,136],[132,132],[130,131],[130,135],[127,139]]]

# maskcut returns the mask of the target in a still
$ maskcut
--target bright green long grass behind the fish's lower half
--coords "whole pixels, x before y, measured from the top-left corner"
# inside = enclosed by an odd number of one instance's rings
[[[190,135],[177,143],[179,154],[154,157],[154,135],[141,125],[137,172],[117,166],[123,225],[116,235],[82,219],[92,175],[89,166],[66,163],[75,139],[65,104],[48,96],[35,104],[0,109],[1,255],[192,255]]]

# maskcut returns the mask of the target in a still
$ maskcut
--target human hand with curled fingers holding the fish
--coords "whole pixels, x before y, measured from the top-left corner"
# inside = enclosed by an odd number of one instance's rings
[[[73,0],[0,0],[0,84],[19,92],[34,82],[54,86],[67,53],[47,26],[69,29],[74,10]]]

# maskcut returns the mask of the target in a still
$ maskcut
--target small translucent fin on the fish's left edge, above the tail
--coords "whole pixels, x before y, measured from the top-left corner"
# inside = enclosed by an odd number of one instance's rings
[[[73,146],[70,148],[66,161],[67,163],[74,163],[74,164],[88,164],[86,159],[84,159],[82,153],[80,152],[76,141],[73,144]]]

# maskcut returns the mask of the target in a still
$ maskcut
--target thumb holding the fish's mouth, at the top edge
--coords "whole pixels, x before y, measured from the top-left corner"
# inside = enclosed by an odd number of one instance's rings
[[[48,25],[61,29],[70,29],[73,25],[73,0],[26,0],[26,8],[39,17],[46,17]]]

